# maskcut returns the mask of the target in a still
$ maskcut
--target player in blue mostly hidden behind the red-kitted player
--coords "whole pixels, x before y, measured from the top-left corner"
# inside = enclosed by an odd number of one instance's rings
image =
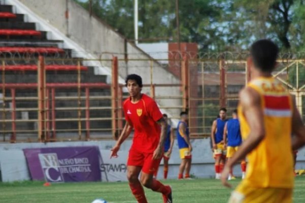
[[[163,154],[163,177],[164,179],[167,179],[168,174],[168,160],[170,159],[170,155],[174,146],[174,129],[171,127],[171,125],[168,122],[167,114],[163,114],[163,118],[167,123],[167,130],[166,130],[166,139],[164,143],[164,154]],[[158,170],[156,171],[155,177],[157,177]]]

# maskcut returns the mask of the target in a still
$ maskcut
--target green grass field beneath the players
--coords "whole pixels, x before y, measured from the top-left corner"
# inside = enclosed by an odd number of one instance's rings
[[[231,181],[235,187],[240,179]],[[173,201],[182,202],[226,202],[232,189],[223,187],[218,180],[168,180],[162,181],[173,189]],[[293,202],[305,202],[305,177],[297,177]],[[145,190],[148,202],[162,202],[161,194]],[[128,183],[58,183],[44,187],[43,182],[0,183],[0,202],[44,202],[44,203],[90,203],[103,197],[108,202],[136,202]]]

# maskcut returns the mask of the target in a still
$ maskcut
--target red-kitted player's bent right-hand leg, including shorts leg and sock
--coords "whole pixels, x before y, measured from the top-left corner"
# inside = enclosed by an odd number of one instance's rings
[[[155,170],[159,167],[160,161],[161,159],[153,159],[152,153],[148,154],[144,160],[140,180],[145,187],[155,192],[162,193],[163,201],[165,203],[170,203],[172,202],[171,188],[168,185],[163,185],[160,181],[153,178]]]

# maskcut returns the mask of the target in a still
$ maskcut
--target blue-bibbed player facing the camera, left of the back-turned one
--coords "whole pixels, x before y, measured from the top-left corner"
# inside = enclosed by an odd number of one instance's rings
[[[219,110],[219,118],[213,121],[212,131],[211,131],[211,140],[212,147],[214,150],[215,156],[215,178],[220,179],[220,173],[223,169],[226,160],[226,150],[224,147],[224,127],[227,122],[227,109],[221,108]]]

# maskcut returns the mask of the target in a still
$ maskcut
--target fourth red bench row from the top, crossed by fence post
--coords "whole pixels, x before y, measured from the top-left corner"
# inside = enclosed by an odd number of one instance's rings
[[[0,71],[3,66],[0,66]],[[46,71],[77,71],[77,65],[46,65]],[[80,66],[81,71],[87,71],[88,67]],[[6,65],[5,71],[37,71],[37,65]]]

